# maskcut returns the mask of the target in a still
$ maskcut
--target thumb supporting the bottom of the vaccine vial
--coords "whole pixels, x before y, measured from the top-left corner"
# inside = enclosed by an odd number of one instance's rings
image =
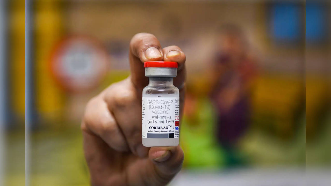
[[[170,181],[179,172],[184,160],[182,148],[177,147],[152,147],[148,158],[153,162],[155,178],[160,182]]]

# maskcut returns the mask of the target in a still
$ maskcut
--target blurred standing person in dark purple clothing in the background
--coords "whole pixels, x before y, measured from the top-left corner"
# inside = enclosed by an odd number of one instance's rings
[[[218,30],[217,55],[213,64],[211,99],[216,110],[217,139],[225,162],[238,164],[233,150],[250,123],[250,94],[256,74],[256,59],[249,51],[243,30],[224,24]]]

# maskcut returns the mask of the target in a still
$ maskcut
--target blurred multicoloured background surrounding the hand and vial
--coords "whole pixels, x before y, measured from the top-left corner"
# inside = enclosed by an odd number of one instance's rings
[[[89,185],[84,107],[129,75],[129,41],[149,32],[187,56],[185,160],[170,185],[303,185],[306,173],[326,185],[329,2],[37,0],[29,25],[24,1],[4,6],[3,184],[23,185],[26,168],[33,186]]]

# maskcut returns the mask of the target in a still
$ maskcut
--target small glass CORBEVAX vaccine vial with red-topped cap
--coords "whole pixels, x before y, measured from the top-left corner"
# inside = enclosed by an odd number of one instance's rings
[[[145,147],[179,144],[179,90],[173,85],[177,62],[147,61],[149,84],[142,95],[142,143]]]

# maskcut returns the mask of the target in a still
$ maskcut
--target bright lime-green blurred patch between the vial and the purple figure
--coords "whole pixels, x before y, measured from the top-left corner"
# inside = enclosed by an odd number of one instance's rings
[[[200,108],[195,118],[183,118],[180,126],[180,146],[185,152],[184,167],[214,168],[224,164],[224,152],[214,135],[214,110],[207,99],[198,100]]]

